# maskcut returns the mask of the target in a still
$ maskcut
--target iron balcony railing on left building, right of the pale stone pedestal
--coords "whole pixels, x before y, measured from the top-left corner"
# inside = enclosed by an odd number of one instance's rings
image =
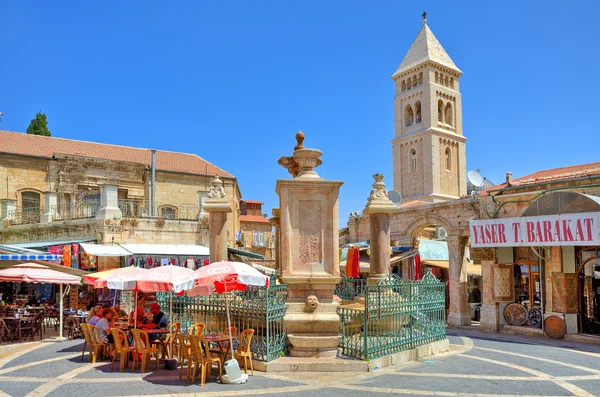
[[[144,201],[119,200],[119,208],[127,218],[162,218],[195,221],[200,213],[198,204],[156,203],[154,215],[151,205]]]

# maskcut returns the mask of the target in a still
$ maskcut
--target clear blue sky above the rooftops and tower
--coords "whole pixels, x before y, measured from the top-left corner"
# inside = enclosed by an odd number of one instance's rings
[[[42,110],[57,137],[196,153],[269,214],[303,130],[344,226],[372,174],[391,188],[390,76],[424,10],[464,72],[468,169],[600,160],[597,1],[3,2],[1,128]]]

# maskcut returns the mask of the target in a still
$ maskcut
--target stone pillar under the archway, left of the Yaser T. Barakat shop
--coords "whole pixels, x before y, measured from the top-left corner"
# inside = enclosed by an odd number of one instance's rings
[[[469,242],[468,237],[450,236],[448,243],[450,289],[450,313],[448,325],[459,327],[471,324],[471,311],[469,310],[469,297],[467,286],[467,257],[465,249]]]

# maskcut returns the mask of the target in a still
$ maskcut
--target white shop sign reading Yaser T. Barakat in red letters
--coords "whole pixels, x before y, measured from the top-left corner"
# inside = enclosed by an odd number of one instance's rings
[[[600,245],[600,212],[469,222],[471,247]]]

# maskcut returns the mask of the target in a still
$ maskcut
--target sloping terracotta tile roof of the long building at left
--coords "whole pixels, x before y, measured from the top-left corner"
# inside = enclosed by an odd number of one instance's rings
[[[19,132],[0,131],[0,153],[51,158],[55,154],[85,156],[102,160],[123,161],[150,165],[151,152],[130,146],[77,141]],[[234,178],[227,171],[203,158],[188,153],[156,151],[156,169],[196,175],[218,175]]]

